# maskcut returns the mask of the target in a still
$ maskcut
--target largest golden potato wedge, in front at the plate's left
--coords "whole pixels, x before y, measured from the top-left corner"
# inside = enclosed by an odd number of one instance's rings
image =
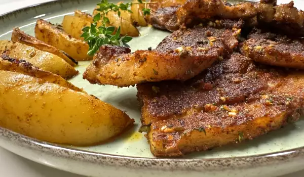
[[[0,71],[0,126],[51,143],[89,146],[134,122],[94,96],[20,73]]]

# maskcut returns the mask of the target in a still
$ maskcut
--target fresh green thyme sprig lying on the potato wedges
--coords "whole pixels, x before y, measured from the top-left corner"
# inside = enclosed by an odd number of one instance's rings
[[[115,45],[121,47],[126,46],[130,48],[127,43],[132,40],[132,37],[127,35],[121,36],[120,26],[118,27],[116,33],[113,34],[116,28],[114,26],[106,27],[106,24],[110,22],[106,15],[110,11],[117,12],[119,17],[121,16],[121,11],[133,13],[129,8],[136,4],[144,4],[145,7],[142,9],[143,14],[150,15],[150,9],[147,8],[147,4],[150,3],[142,2],[142,0],[137,0],[137,2],[138,3],[121,3],[119,5],[115,5],[113,3],[108,3],[107,0],[101,0],[101,2],[97,4],[99,8],[96,10],[100,13],[97,13],[93,17],[93,23],[91,23],[90,26],[82,29],[83,34],[81,37],[84,37],[84,40],[90,47],[88,55],[93,56],[102,45]],[[100,26],[97,26],[98,22],[101,22]]]

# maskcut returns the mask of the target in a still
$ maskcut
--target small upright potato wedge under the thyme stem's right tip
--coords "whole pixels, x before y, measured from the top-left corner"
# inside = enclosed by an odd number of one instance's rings
[[[137,0],[134,0],[133,3],[138,3]],[[147,26],[147,22],[144,18],[142,9],[144,8],[144,5],[140,4],[134,4],[131,6],[131,11],[133,12],[131,14],[132,19],[136,22],[139,26]]]

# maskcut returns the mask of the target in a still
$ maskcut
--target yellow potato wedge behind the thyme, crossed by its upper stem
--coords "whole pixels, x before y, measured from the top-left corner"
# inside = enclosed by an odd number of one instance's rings
[[[93,11],[93,15],[99,13],[96,9]],[[131,18],[131,13],[128,11],[121,11],[121,16],[119,17],[117,12],[110,11],[106,15],[110,21],[110,26],[121,27],[121,34],[128,36],[139,36],[138,29],[133,26],[133,20]]]

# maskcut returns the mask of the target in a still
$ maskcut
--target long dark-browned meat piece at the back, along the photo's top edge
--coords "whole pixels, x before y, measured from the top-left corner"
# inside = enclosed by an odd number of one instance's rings
[[[289,4],[277,5],[276,1],[227,5],[221,0],[188,0],[171,4],[153,5],[150,23],[160,29],[174,31],[204,19],[243,19],[247,26],[272,28],[287,35],[304,36],[304,13]],[[172,5],[172,6],[170,6]]]

